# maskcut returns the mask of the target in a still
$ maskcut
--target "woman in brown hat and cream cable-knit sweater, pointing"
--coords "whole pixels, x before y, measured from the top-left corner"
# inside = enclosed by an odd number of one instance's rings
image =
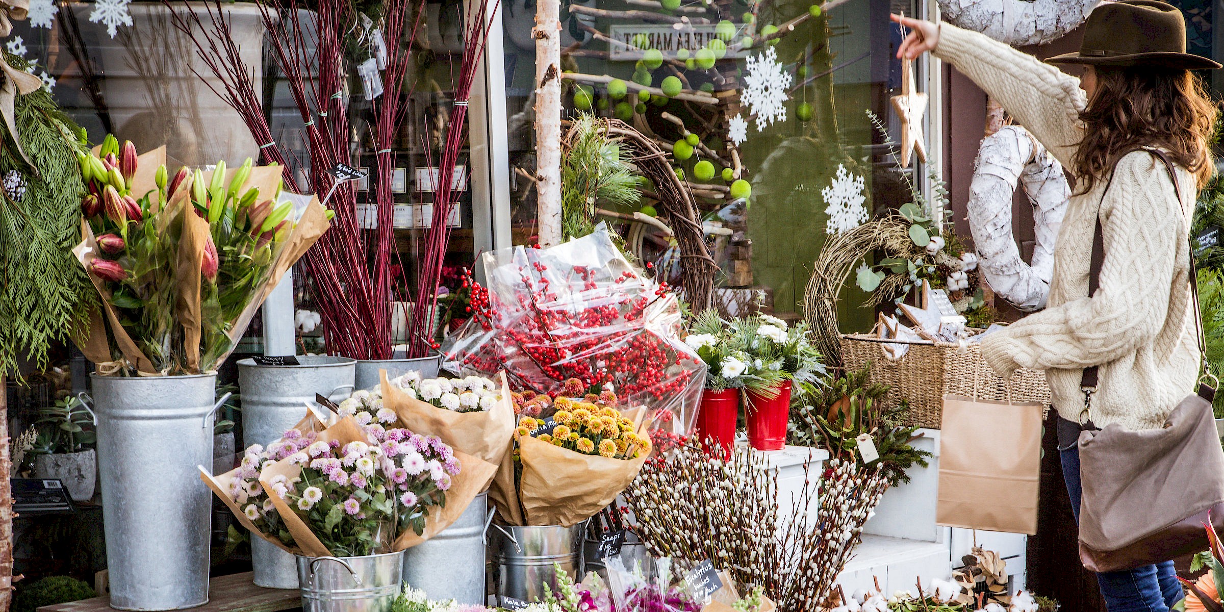
[[[1157,428],[1195,388],[1187,235],[1197,187],[1213,171],[1215,110],[1190,70],[1220,66],[1186,54],[1181,12],[1154,0],[1104,2],[1092,12],[1080,53],[1049,60],[1083,65],[1080,81],[976,32],[892,20],[913,31],[898,58],[931,51],[956,66],[1076,177],[1047,308],[984,338],[982,354],[1004,377],[1018,367],[1047,372],[1078,513],[1080,425]],[[1160,153],[1175,168],[1176,188]],[[1104,259],[1089,291],[1098,217]],[[1084,368],[1093,366],[1095,390],[1084,393],[1082,382],[1092,387]],[[1182,597],[1171,561],[1098,581],[1110,612],[1166,612]]]

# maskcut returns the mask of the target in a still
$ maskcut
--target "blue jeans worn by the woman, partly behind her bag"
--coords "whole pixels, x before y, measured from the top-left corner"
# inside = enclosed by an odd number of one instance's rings
[[[1059,453],[1062,459],[1062,477],[1067,485],[1067,494],[1071,496],[1071,509],[1078,521],[1080,498],[1083,493],[1080,485],[1080,448],[1071,444],[1071,448],[1060,448]],[[1109,612],[1169,612],[1184,596],[1171,561],[1127,572],[1097,574],[1097,583]]]

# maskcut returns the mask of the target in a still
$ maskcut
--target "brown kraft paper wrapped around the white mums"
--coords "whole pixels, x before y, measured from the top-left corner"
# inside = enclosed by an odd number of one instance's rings
[[[387,381],[386,370],[379,371],[379,375],[383,406],[394,410],[404,427],[415,433],[437,436],[455,450],[501,465],[509,449],[510,436],[514,435],[514,400],[510,398],[506,372],[497,375],[502,387],[502,400],[488,410],[472,412],[455,412],[412,399],[398,386]],[[492,477],[490,474],[490,481]],[[488,482],[485,486],[488,486]]]

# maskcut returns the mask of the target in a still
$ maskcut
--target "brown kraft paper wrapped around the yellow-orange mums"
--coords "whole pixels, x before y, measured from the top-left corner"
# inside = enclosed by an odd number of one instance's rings
[[[649,439],[649,426],[641,424],[638,435]],[[568,528],[591,518],[629,486],[649,455],[649,447],[629,460],[586,455],[520,436],[519,502],[526,524]]]

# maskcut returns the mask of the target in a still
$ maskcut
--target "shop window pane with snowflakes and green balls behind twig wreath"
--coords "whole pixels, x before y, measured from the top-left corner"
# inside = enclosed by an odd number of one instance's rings
[[[530,0],[502,7],[518,244],[536,235],[534,7]],[[572,4],[562,11],[562,64],[570,72],[564,115],[618,118],[665,151],[674,148],[674,165],[714,230],[707,242],[720,263],[718,285],[750,288],[721,291],[722,300],[764,290],[777,313],[802,312],[812,262],[827,236],[823,192],[838,173],[840,184],[851,187],[862,179],[869,213],[907,200],[886,138],[868,111],[890,135],[898,133],[889,97],[901,84],[894,58],[901,34],[887,13],[917,9],[908,0],[834,0],[819,10],[808,0]],[[922,75],[916,77],[920,83]],[[734,197],[742,187],[731,193],[737,177],[750,185],[747,200]],[[638,206],[613,212],[650,207],[650,196],[647,188]],[[639,256],[674,279],[677,253],[657,230],[612,222]],[[847,288],[843,297],[858,304],[853,291]],[[865,321],[870,312],[857,316]]]

